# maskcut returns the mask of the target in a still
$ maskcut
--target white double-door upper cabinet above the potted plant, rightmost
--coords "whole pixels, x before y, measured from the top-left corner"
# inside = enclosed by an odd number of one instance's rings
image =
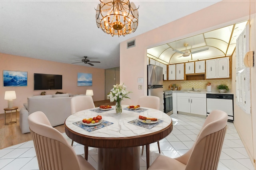
[[[229,78],[229,57],[206,60],[206,78]]]

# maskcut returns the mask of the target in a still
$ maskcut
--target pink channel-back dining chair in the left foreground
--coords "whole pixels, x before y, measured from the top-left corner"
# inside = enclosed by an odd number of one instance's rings
[[[40,170],[95,170],[81,155],[76,155],[64,136],[54,129],[42,111],[28,116]]]

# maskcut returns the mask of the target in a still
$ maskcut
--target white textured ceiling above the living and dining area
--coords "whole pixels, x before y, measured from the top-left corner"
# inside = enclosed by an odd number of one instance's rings
[[[111,37],[96,25],[94,8],[99,0],[0,0],[0,53],[61,63],[88,56],[101,62],[93,67],[113,68],[119,66],[120,42],[219,1],[131,0],[139,6],[138,29]]]

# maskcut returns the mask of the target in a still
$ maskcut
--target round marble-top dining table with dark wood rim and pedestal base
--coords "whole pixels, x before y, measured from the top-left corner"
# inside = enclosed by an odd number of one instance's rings
[[[105,111],[96,107],[74,113],[65,121],[66,135],[85,146],[86,159],[88,147],[98,148],[98,170],[139,170],[142,145],[146,145],[148,168],[150,143],[163,139],[172,131],[172,119],[162,111],[147,107],[134,110],[122,107],[119,115],[115,106]],[[97,115],[102,116],[99,125],[82,124],[82,119]],[[139,115],[157,118],[158,122],[143,123],[138,120]]]

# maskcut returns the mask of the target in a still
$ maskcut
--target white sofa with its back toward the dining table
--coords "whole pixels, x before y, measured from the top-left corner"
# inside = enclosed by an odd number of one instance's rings
[[[22,133],[30,132],[28,126],[28,115],[35,111],[42,111],[49,119],[51,125],[64,124],[66,118],[71,115],[70,101],[72,97],[68,94],[56,94],[45,96],[33,96],[28,98],[27,106],[20,109],[20,130]]]

